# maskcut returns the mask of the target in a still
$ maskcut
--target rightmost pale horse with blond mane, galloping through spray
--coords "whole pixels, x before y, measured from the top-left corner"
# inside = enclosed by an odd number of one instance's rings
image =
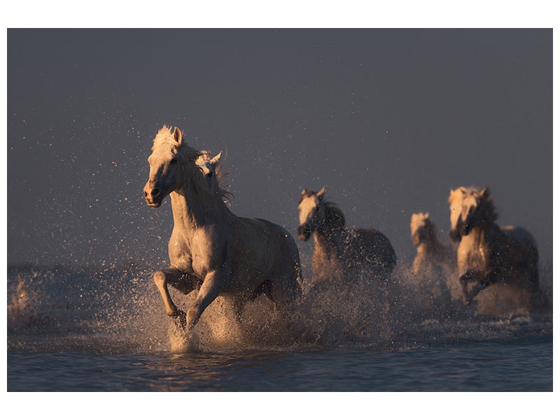
[[[460,240],[457,266],[466,304],[478,297],[481,313],[500,309],[528,313],[539,295],[533,236],[522,228],[496,224],[498,214],[488,187],[451,190],[448,201],[450,235]]]

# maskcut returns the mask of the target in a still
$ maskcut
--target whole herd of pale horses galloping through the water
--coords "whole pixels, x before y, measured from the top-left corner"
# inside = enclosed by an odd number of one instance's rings
[[[169,240],[168,268],[154,274],[167,315],[186,331],[218,295],[232,299],[237,316],[246,302],[265,294],[276,311],[287,312],[307,293],[300,255],[293,237],[281,226],[259,218],[241,218],[230,211],[223,188],[221,153],[197,151],[178,127],[163,126],[148,158],[144,186],[149,207],[171,197],[174,228]],[[344,214],[325,199],[325,188],[302,190],[298,204],[302,241],[314,237],[311,261],[314,290],[368,276],[383,289],[397,258],[379,230],[347,229]],[[488,188],[457,188],[449,195],[451,239],[444,245],[428,214],[411,218],[417,255],[412,275],[446,276],[449,293],[468,307],[482,290],[500,285],[515,290],[526,309],[538,300],[538,251],[529,232],[496,224]],[[188,294],[198,290],[186,312],[174,304],[168,286]],[[498,290],[498,293],[499,290]]]

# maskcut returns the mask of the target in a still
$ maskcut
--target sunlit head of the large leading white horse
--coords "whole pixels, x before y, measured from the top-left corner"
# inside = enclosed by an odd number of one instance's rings
[[[144,198],[149,207],[160,207],[163,199],[181,188],[181,154],[183,133],[164,125],[154,139],[152,154],[148,157],[150,175],[144,186]]]

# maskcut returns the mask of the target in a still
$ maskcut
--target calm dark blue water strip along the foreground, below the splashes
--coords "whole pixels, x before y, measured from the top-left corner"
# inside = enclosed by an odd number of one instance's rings
[[[407,351],[13,353],[8,391],[552,391],[552,336]]]

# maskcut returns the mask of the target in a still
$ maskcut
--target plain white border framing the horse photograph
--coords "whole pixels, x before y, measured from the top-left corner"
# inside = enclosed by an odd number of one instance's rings
[[[3,4],[8,27],[553,27],[558,13],[553,1],[15,1]],[[1,48],[6,80],[6,31]],[[554,69],[558,69],[554,43]],[[554,72],[556,73],[556,71]],[[6,133],[6,83],[2,85],[1,127]],[[556,99],[554,88],[554,99]],[[556,101],[554,101],[556,102]],[[556,121],[556,109],[554,120]],[[556,136],[554,136],[556,139]],[[6,168],[6,141],[2,148]],[[556,150],[554,162],[556,162]],[[558,170],[554,165],[554,181]],[[2,172],[6,191],[6,169]],[[556,182],[554,182],[556,191]],[[554,194],[556,199],[556,194]],[[554,200],[554,209],[557,209]],[[6,202],[1,207],[6,226]],[[554,211],[556,216],[556,211]],[[554,238],[558,227],[554,227]],[[6,230],[2,230],[6,244]],[[6,250],[1,254],[4,273]],[[559,251],[554,248],[554,261]],[[556,279],[556,275],[554,275]],[[6,302],[6,283],[2,288]],[[2,312],[2,351],[6,351],[6,311]],[[556,321],[556,320],[555,320]],[[556,342],[556,340],[555,340]],[[558,346],[554,346],[555,349]],[[556,360],[557,351],[554,351]],[[556,363],[554,363],[556,366]],[[6,391],[6,358],[2,391]],[[557,384],[554,369],[554,384]],[[556,388],[556,386],[554,386]],[[202,415],[209,418],[435,418],[531,419],[553,416],[553,395],[496,393],[11,393],[3,411],[14,416],[56,414],[62,420],[76,416],[157,419]],[[164,405],[165,404],[165,405]]]

